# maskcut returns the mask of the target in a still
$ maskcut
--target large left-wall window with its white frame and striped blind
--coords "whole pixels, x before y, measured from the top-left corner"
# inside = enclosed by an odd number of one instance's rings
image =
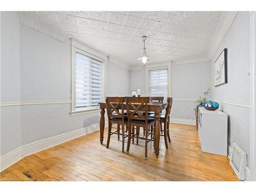
[[[71,114],[80,115],[99,110],[98,103],[104,98],[105,76],[102,57],[95,50],[72,40]]]

